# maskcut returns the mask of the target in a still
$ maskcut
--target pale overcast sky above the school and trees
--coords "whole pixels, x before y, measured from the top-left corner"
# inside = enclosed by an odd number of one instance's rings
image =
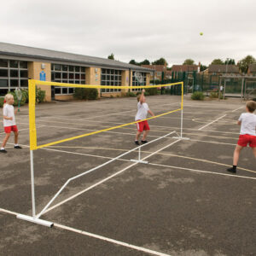
[[[9,0],[0,42],[118,61],[256,58],[255,0]],[[201,36],[200,33],[203,32]]]

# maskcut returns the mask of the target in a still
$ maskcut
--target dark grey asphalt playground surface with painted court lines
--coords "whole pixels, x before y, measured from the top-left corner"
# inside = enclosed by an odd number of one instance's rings
[[[148,96],[149,108],[180,108],[180,96]],[[136,98],[37,105],[38,145],[134,121]],[[32,215],[28,108],[16,115],[21,150],[9,139],[0,166],[0,255],[255,255],[256,160],[244,148],[232,165],[245,102],[195,102],[148,121],[138,151],[68,183],[41,216],[52,228],[16,218]],[[1,113],[2,115],[2,113]],[[3,126],[1,118],[0,122]],[[36,212],[71,177],[136,148],[136,125],[35,150]],[[3,128],[0,141],[3,142]]]

